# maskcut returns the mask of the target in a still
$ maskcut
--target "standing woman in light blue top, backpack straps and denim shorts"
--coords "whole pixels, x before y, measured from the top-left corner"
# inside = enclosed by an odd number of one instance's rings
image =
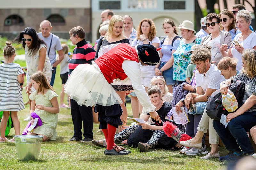
[[[173,56],[172,53],[176,51],[180,45],[180,37],[178,36],[176,26],[171,19],[165,19],[163,23],[164,33],[167,35],[159,44],[162,48],[160,51],[161,63],[157,64],[154,68],[155,75],[164,76],[169,92],[172,93],[172,85],[176,81],[173,80]],[[151,80],[152,83],[152,80]],[[152,84],[151,84],[152,85]]]

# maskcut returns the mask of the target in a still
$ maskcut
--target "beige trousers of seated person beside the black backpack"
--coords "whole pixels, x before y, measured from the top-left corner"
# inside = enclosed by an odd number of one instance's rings
[[[206,113],[206,107],[204,109],[203,116],[198,124],[197,130],[203,133],[207,132],[209,127],[209,144],[219,144],[219,135],[213,128],[213,119],[209,118]]]

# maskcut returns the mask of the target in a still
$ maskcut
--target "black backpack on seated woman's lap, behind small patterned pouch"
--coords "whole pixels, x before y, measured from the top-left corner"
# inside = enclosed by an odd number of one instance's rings
[[[242,100],[245,91],[245,83],[241,80],[231,80],[231,84],[228,85],[229,90],[234,93],[236,100],[238,102],[238,108],[242,106]],[[237,109],[238,109],[237,108]],[[228,111],[222,105],[222,96],[220,89],[216,90],[210,96],[207,106],[206,106],[207,115],[214,120],[219,121],[221,115],[228,115]]]

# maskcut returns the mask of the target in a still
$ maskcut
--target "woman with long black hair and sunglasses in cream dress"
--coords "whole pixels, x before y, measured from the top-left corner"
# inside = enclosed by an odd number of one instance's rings
[[[46,53],[46,45],[41,40],[36,31],[31,28],[25,28],[20,34],[14,39],[18,44],[22,44],[25,49],[25,59],[27,66],[26,74],[26,93],[29,95],[35,91],[30,83],[30,76],[38,71],[42,71],[50,83],[52,77],[52,65]],[[31,100],[29,99],[29,105],[31,107]]]

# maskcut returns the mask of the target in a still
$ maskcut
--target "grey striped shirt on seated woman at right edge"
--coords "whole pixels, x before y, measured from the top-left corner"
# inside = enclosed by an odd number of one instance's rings
[[[256,76],[250,79],[245,73],[239,73],[232,76],[230,79],[241,80],[245,83],[245,92],[242,100],[242,104],[253,94],[256,96]],[[256,110],[256,104],[253,105],[247,112],[252,112]]]

